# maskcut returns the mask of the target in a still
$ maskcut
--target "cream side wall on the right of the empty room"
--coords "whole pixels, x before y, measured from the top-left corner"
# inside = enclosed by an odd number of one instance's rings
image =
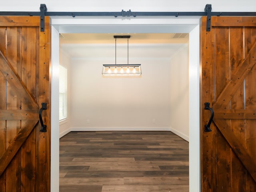
[[[188,44],[171,58],[171,131],[188,141]]]

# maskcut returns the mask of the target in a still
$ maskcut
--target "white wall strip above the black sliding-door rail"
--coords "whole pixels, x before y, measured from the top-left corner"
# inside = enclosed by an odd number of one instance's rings
[[[254,12],[255,0],[0,0],[0,11],[38,11],[46,4],[48,11],[194,11],[204,12],[206,4],[212,4],[213,12]]]

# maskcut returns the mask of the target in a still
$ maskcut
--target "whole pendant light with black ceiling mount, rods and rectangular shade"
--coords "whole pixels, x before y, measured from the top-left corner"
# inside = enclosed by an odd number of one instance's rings
[[[130,35],[115,35],[117,38],[127,38],[127,64],[104,64],[102,68],[103,76],[140,76],[140,64],[129,64],[129,38]]]

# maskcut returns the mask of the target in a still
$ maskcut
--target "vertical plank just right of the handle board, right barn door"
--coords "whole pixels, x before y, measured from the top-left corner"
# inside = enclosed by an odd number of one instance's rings
[[[229,28],[215,30],[215,95],[220,95],[230,80]],[[216,131],[216,191],[231,191],[230,147],[219,131]],[[223,171],[224,170],[224,171]]]

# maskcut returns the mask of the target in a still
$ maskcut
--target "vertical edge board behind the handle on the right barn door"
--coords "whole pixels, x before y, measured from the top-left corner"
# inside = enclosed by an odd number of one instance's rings
[[[214,70],[214,56],[212,55],[212,45],[214,45],[214,29],[210,32],[202,32],[206,28],[206,17],[202,17],[201,26],[201,71],[202,71],[202,102],[201,108],[204,109],[205,102],[214,102],[214,94],[211,92],[214,87],[214,77],[212,71]],[[200,140],[204,145],[201,145],[201,189],[203,192],[216,191],[216,176],[215,176],[215,147],[212,147],[215,140],[215,128],[212,127],[212,132],[204,132],[204,124],[208,123],[209,112],[201,110],[200,114],[203,124],[200,128]]]

